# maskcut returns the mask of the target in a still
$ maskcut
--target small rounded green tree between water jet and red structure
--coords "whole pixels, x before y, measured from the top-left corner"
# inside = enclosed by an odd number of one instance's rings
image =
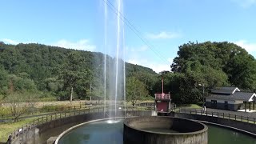
[[[143,82],[138,78],[130,77],[126,80],[126,100],[134,106],[138,100],[143,100],[148,96],[148,91]]]

